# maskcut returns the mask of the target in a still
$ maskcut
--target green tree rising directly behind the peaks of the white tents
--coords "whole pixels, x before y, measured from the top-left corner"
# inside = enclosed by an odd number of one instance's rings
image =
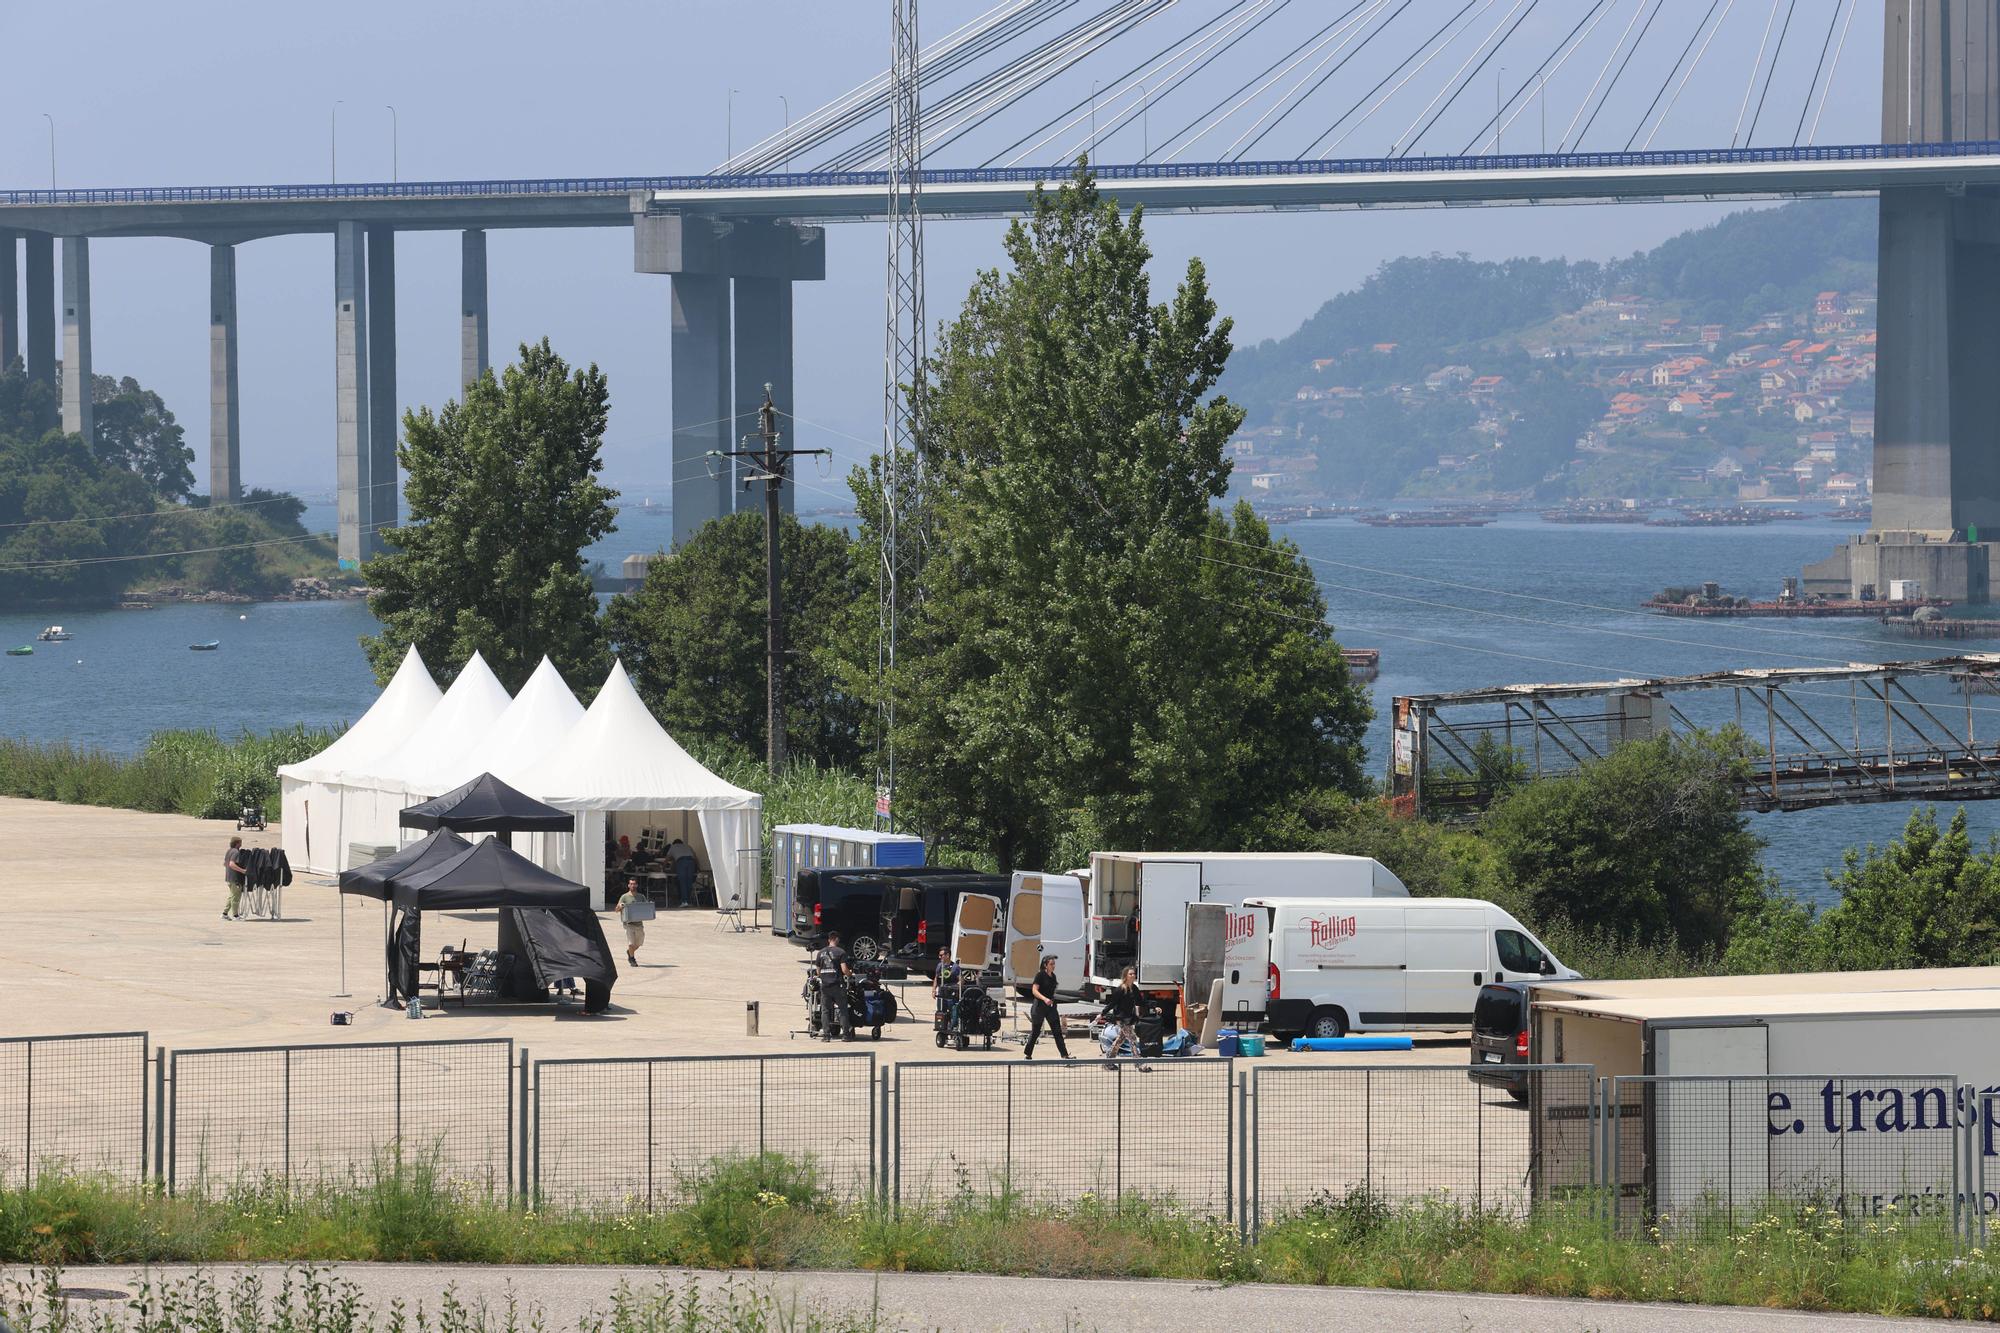
[[[382,632],[362,638],[378,681],[414,642],[440,679],[482,652],[520,689],[546,652],[578,693],[610,664],[582,552],[612,528],[598,482],[610,390],[548,338],[440,412],[404,416],[396,450],[410,520],[366,566]]]

